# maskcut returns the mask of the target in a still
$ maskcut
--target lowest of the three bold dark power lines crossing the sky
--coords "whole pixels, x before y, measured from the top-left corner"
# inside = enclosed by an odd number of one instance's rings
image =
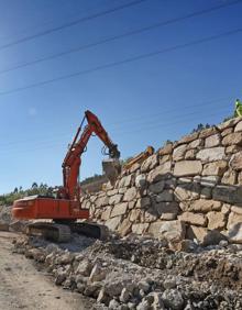
[[[206,42],[219,40],[221,37],[239,34],[241,32],[242,32],[241,27],[232,30],[232,31],[228,31],[228,32],[222,32],[220,34],[207,36],[207,37],[195,40],[195,41],[184,43],[184,44],[174,45],[172,47],[167,47],[167,48],[160,49],[160,51],[156,51],[156,52],[140,54],[138,56],[125,58],[123,60],[100,65],[100,66],[97,66],[97,67],[94,67],[94,68],[90,68],[90,69],[76,71],[76,73],[73,73],[73,74],[69,74],[69,75],[63,75],[63,76],[59,76],[59,77],[56,77],[56,78],[43,80],[43,81],[40,81],[40,82],[34,82],[34,84],[31,84],[31,85],[28,85],[28,86],[24,86],[24,87],[18,87],[18,88],[13,88],[13,89],[10,89],[10,90],[1,91],[0,96],[23,91],[23,90],[40,87],[40,86],[45,86],[45,85],[53,84],[53,82],[56,82],[56,81],[74,78],[74,77],[77,77],[77,76],[88,75],[88,74],[91,74],[91,73],[100,71],[100,70],[103,70],[103,69],[112,68],[112,67],[118,67],[120,65],[142,60],[142,59],[145,59],[145,58],[151,58],[151,57],[154,57],[154,56],[157,56],[157,55],[161,55],[161,54],[174,52],[174,51],[186,48],[186,47],[189,47],[189,46],[199,45],[199,44],[202,44],[202,43],[206,43]]]

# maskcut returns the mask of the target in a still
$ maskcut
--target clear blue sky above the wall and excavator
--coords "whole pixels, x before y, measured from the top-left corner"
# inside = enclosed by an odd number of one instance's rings
[[[0,193],[61,185],[86,110],[122,158],[233,113],[242,99],[242,1],[131,2],[0,0]],[[227,7],[188,18],[219,5]],[[91,137],[80,179],[101,173],[101,147]]]

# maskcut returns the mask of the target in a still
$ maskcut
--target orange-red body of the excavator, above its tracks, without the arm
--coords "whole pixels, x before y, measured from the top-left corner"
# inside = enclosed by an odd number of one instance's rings
[[[24,220],[76,220],[88,219],[89,210],[80,209],[74,200],[30,196],[14,201],[12,214]]]

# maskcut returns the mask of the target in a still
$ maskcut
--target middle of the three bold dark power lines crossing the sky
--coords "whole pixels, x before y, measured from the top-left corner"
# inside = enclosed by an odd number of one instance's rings
[[[136,35],[136,34],[143,33],[143,32],[147,32],[147,31],[151,31],[151,30],[154,30],[154,29],[157,29],[157,27],[166,26],[166,25],[177,23],[177,22],[180,22],[180,21],[185,21],[185,20],[195,18],[195,16],[204,15],[204,14],[207,14],[207,13],[210,13],[210,12],[213,12],[213,11],[217,11],[217,10],[230,7],[230,5],[234,5],[234,4],[238,4],[238,3],[241,3],[241,2],[242,2],[242,0],[237,0],[237,1],[229,2],[229,3],[223,3],[223,4],[216,5],[216,7],[212,7],[212,8],[209,8],[209,9],[204,9],[204,10],[200,10],[200,11],[188,13],[188,14],[183,15],[183,16],[178,16],[178,18],[174,18],[174,19],[170,19],[170,20],[154,23],[154,24],[148,25],[148,26],[140,27],[140,29],[136,29],[136,30],[133,30],[133,31],[128,31],[128,32],[124,32],[124,33],[119,34],[119,35],[110,36],[110,37],[99,40],[99,41],[96,41],[96,42],[92,42],[92,43],[89,43],[89,44],[80,45],[79,47],[70,48],[70,49],[65,51],[65,52],[56,53],[56,54],[53,54],[53,55],[50,55],[50,56],[37,58],[35,60],[22,63],[22,64],[2,69],[2,70],[0,70],[0,74],[13,71],[13,70],[24,68],[24,67],[28,67],[28,66],[31,66],[31,65],[40,64],[40,63],[43,63],[43,62],[46,62],[46,60],[56,59],[56,58],[59,58],[59,57],[63,57],[63,56],[66,56],[66,55],[73,54],[73,53],[81,52],[81,51],[85,51],[85,49],[88,49],[88,48],[91,48],[91,47],[95,47],[95,46],[103,45],[103,44],[107,44],[107,43],[110,43],[110,42],[113,42],[113,41],[125,38],[125,37]]]

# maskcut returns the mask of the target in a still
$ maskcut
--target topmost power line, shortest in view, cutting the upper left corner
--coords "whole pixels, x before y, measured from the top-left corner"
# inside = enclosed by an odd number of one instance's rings
[[[80,18],[80,19],[77,19],[75,21],[65,23],[63,25],[51,27],[51,29],[41,31],[41,32],[38,32],[36,34],[24,36],[22,38],[16,40],[16,41],[13,41],[13,42],[10,42],[10,43],[7,43],[7,44],[2,44],[2,45],[0,45],[0,49],[4,49],[4,48],[11,47],[13,45],[23,43],[23,42],[28,42],[28,41],[34,40],[36,37],[41,37],[41,36],[44,36],[44,35],[47,35],[47,34],[61,31],[63,29],[72,27],[74,25],[77,25],[77,24],[80,24],[80,23],[84,23],[84,22],[87,22],[87,21],[90,21],[90,20],[94,20],[94,19],[97,19],[97,18],[101,18],[101,16],[114,13],[117,11],[120,11],[120,10],[123,10],[123,9],[127,9],[127,8],[130,8],[130,7],[138,5],[138,4],[140,4],[142,2],[145,2],[145,1],[147,1],[147,0],[135,0],[135,1],[129,2],[127,4],[122,4],[122,5],[119,5],[119,7],[116,7],[116,8],[106,10],[106,11],[102,11],[102,12],[98,12],[98,13],[95,13],[95,14],[91,14],[91,15],[88,15],[88,16],[85,16],[85,18]]]

